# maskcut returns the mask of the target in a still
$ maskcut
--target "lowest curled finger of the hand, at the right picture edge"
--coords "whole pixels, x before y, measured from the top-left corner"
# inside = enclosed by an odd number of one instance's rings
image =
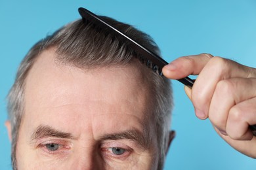
[[[238,103],[230,109],[226,132],[236,140],[251,140],[253,133],[249,125],[256,124],[256,97]]]

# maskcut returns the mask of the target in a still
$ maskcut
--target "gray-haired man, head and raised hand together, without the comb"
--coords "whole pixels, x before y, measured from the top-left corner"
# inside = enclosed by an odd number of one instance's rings
[[[105,19],[159,53],[148,35]],[[174,137],[167,78],[190,74],[200,74],[192,91],[186,88],[197,116],[209,116],[224,140],[256,157],[248,129],[256,123],[255,69],[201,54],[173,61],[163,69],[165,78],[135,57],[133,49],[82,20],[35,44],[9,93],[13,168],[162,169]],[[230,88],[237,79],[241,86]],[[223,92],[236,95],[220,100]],[[241,114],[241,108],[251,112]]]

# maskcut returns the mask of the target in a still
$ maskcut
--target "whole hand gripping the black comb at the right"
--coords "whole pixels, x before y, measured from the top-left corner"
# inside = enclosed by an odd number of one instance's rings
[[[175,59],[163,67],[171,79],[198,75],[192,89],[185,92],[196,116],[209,118],[217,133],[232,147],[256,158],[256,69],[211,54]]]

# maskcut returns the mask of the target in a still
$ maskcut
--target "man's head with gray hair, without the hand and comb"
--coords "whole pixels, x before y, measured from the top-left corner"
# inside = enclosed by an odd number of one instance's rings
[[[130,25],[105,18],[154,52]],[[171,89],[133,49],[83,20],[33,46],[9,94],[14,169],[161,169]]]

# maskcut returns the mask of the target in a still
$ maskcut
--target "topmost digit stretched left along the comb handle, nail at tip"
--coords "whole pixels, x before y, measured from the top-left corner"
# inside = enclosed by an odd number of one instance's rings
[[[180,79],[188,75],[198,75],[211,58],[213,58],[211,54],[199,54],[175,59],[163,67],[163,75],[171,79]]]

